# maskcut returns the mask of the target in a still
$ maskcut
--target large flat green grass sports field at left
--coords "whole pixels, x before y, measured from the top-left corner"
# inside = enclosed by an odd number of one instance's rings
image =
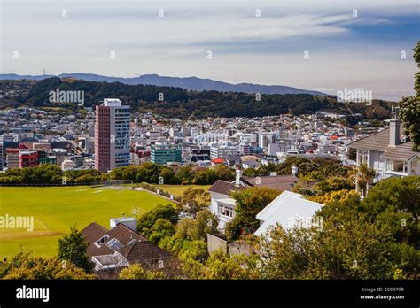
[[[0,257],[10,257],[20,246],[35,255],[52,256],[58,238],[72,225],[81,230],[96,221],[109,227],[109,219],[129,216],[134,207],[147,212],[167,199],[146,191],[90,187],[0,188],[0,216],[33,216],[34,231],[0,228]]]

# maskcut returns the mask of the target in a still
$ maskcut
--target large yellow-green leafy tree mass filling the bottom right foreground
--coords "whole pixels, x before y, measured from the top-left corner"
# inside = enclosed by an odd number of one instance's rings
[[[259,244],[259,268],[264,279],[414,279],[420,256],[405,250],[374,223],[326,221],[323,231],[276,227]]]

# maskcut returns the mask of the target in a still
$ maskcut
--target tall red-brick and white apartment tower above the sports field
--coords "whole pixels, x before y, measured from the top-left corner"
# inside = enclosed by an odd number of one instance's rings
[[[108,172],[129,165],[129,106],[105,98],[96,108],[95,168]]]

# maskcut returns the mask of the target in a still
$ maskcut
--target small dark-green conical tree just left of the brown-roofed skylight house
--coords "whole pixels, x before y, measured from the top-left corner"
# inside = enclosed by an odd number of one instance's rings
[[[86,241],[84,235],[77,231],[76,227],[70,227],[70,234],[64,235],[58,239],[58,254],[57,257],[60,260],[68,260],[74,264],[83,268],[86,273],[92,273],[93,262],[90,260],[86,249],[89,243]]]

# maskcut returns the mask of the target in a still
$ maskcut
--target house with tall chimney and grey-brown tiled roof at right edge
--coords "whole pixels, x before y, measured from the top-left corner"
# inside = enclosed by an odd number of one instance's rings
[[[420,175],[419,153],[411,150],[412,142],[402,134],[398,110],[393,110],[389,127],[347,145],[356,150],[356,166],[365,163],[375,170],[374,182],[393,176]]]

